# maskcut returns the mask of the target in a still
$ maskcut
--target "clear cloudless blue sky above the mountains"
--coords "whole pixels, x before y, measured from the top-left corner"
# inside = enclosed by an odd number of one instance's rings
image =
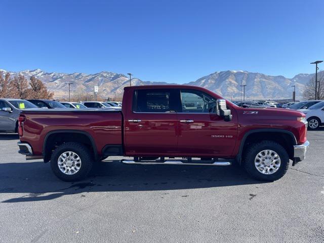
[[[6,70],[186,83],[228,69],[292,77],[324,59],[322,0],[2,0],[0,8]]]

